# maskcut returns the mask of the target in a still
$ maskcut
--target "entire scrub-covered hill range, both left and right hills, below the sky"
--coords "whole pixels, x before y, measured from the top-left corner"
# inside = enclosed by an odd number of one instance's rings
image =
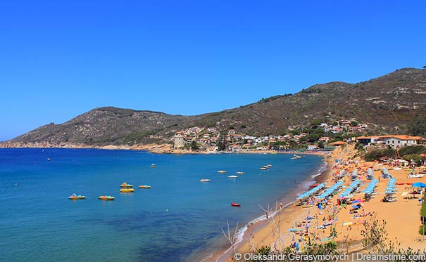
[[[116,107],[95,108],[63,124],[48,124],[11,143],[123,145],[168,138],[189,126],[234,127],[253,135],[286,133],[313,119],[358,119],[382,132],[416,132],[426,122],[426,70],[405,68],[358,84],[316,84],[294,95],[275,96],[222,112],[170,115]],[[425,132],[425,131],[423,131]]]

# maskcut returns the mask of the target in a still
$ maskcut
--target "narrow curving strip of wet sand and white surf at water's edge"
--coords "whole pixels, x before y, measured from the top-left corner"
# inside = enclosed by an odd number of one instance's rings
[[[292,154],[293,152],[283,152]],[[299,152],[298,152],[299,153]],[[301,153],[299,153],[301,154]],[[282,195],[279,197],[280,201],[284,201],[284,199],[294,199],[290,202],[287,202],[283,205],[282,209],[278,209],[277,211],[274,211],[273,214],[270,214],[270,218],[273,218],[275,216],[299,216],[301,211],[303,209],[294,209],[293,204],[297,201],[295,197],[298,195],[298,192],[300,190],[306,190],[306,185],[314,184],[314,183],[323,183],[327,181],[332,176],[332,169],[330,169],[330,159],[328,159],[326,154],[306,154],[306,155],[319,155],[322,156],[322,165],[320,166],[319,173],[315,173],[305,180],[301,181],[299,183],[299,186],[292,190],[291,192],[288,192],[287,197]],[[322,170],[323,169],[323,170]],[[241,251],[241,249],[244,247],[246,242],[248,242],[249,238],[254,236],[256,232],[259,232],[260,230],[263,230],[266,226],[270,225],[272,222],[270,221],[270,218],[267,220],[265,218],[265,215],[258,216],[257,218],[254,218],[249,223],[246,223],[242,228],[239,228],[238,234],[237,234],[237,242],[234,244],[234,249],[237,250],[237,252]],[[245,228],[245,229],[244,229]],[[243,230],[244,229],[244,230]],[[243,230],[243,232],[240,232]],[[212,256],[208,258],[204,258],[201,261],[208,261],[208,262],[225,262],[230,261],[230,259],[233,259],[233,247],[228,247],[227,249],[220,249],[219,251],[215,251]]]

